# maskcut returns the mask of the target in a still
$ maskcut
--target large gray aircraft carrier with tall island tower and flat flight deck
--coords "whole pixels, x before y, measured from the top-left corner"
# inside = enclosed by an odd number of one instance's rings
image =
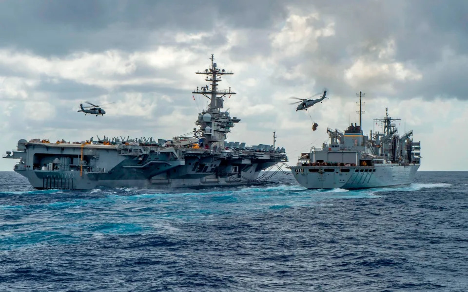
[[[231,75],[211,66],[196,74],[206,75],[210,86],[196,88],[210,100],[198,114],[193,132],[171,140],[114,137],[98,141],[50,143],[45,139],[21,139],[17,149],[3,158],[19,159],[14,170],[37,189],[94,189],[98,187],[192,187],[236,185],[258,179],[262,170],[287,162],[284,148],[272,145],[246,146],[227,142],[227,134],[240,119],[223,109],[218,90],[221,76]]]

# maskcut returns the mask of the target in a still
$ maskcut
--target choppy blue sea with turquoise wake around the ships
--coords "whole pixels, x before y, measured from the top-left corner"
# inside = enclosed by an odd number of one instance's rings
[[[468,291],[467,187],[39,191],[0,172],[0,291]]]

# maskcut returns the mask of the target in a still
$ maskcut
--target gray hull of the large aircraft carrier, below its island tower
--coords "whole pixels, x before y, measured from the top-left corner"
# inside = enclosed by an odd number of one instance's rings
[[[79,144],[19,143],[4,158],[37,189],[192,187],[255,181],[284,155],[220,150]]]

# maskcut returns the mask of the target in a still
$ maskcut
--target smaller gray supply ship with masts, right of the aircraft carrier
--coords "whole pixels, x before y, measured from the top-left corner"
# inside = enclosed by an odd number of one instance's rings
[[[400,119],[391,118],[388,109],[384,118],[374,120],[383,131],[364,135],[361,92],[359,96],[359,126],[351,124],[344,133],[328,128],[330,143],[312,147],[290,167],[298,183],[309,189],[362,189],[412,182],[421,162],[421,143],[413,141],[412,130],[398,134],[394,122]]]

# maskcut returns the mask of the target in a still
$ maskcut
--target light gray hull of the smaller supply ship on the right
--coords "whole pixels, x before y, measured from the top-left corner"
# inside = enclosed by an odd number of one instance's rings
[[[375,166],[292,166],[298,183],[309,189],[363,189],[412,183],[419,164]]]

